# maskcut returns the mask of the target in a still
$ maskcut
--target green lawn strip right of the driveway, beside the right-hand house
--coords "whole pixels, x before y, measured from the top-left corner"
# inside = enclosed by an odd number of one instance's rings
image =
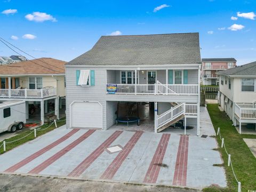
[[[243,141],[243,138],[256,139],[256,135],[239,134],[225,112],[221,112],[218,104],[208,104],[212,124],[215,132],[220,127],[221,137],[224,138],[225,146],[231,155],[231,161],[238,181],[241,182],[242,191],[256,190],[256,158],[251,153],[249,147]],[[217,136],[219,146],[221,140]],[[234,178],[231,166],[228,164],[228,157],[224,148],[220,148],[220,153],[224,161],[224,167],[227,175],[228,188],[205,188],[204,191],[237,191],[237,182]]]

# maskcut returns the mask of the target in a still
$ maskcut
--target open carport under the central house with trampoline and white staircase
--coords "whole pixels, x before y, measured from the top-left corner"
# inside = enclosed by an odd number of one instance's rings
[[[107,101],[107,111],[108,129],[199,134],[193,103]]]

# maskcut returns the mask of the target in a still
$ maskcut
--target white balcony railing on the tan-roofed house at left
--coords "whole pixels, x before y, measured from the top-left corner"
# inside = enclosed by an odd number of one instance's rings
[[[55,87],[44,89],[0,89],[0,98],[46,98],[56,95]]]

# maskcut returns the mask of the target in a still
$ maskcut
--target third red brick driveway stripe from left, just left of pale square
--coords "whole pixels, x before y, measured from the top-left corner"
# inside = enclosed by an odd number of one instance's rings
[[[115,131],[106,141],[104,141],[97,149],[87,156],[72,172],[68,174],[70,177],[79,177],[103,151],[113,143],[123,131]]]

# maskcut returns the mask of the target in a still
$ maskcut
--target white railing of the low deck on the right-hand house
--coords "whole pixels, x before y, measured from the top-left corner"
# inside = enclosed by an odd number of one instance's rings
[[[256,119],[256,108],[253,103],[235,103],[234,106],[235,106],[235,115],[238,118]]]

